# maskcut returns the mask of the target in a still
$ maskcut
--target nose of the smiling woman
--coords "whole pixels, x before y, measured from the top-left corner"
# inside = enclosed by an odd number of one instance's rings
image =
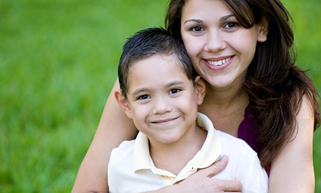
[[[226,41],[220,31],[210,31],[205,42],[205,51],[215,52],[226,48]]]

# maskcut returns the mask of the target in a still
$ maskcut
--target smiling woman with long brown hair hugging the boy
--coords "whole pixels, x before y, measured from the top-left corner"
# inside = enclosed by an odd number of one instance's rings
[[[216,129],[245,139],[258,152],[270,174],[270,192],[314,192],[317,91],[294,64],[289,19],[278,0],[172,0],[166,27],[183,39],[193,66],[207,81],[199,111]],[[109,97],[74,192],[106,192],[111,149],[136,134],[131,120]],[[162,190],[193,192],[204,183],[217,192],[240,191],[237,182],[209,178],[224,164],[223,160]]]

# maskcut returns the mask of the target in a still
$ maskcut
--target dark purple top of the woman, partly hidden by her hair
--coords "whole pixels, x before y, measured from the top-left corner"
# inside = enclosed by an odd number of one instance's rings
[[[250,105],[245,108],[244,120],[238,127],[238,138],[243,139],[252,147],[252,149],[260,154],[263,147],[256,142],[258,136],[258,129],[256,128],[254,116]],[[270,165],[265,168],[267,176],[270,176]]]

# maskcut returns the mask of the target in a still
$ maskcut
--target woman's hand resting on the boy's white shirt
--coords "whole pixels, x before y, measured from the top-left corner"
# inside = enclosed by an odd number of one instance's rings
[[[224,155],[218,162],[201,169],[179,184],[163,187],[155,192],[240,192],[242,184],[237,180],[211,178],[225,169],[227,164],[228,157]]]

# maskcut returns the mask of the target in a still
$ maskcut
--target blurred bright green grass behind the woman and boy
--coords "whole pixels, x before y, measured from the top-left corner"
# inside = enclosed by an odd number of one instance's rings
[[[321,1],[286,0],[297,64],[321,91]],[[167,0],[0,1],[0,192],[70,192],[121,46],[163,26]],[[321,131],[314,136],[321,192]],[[293,160],[295,162],[295,160]]]

